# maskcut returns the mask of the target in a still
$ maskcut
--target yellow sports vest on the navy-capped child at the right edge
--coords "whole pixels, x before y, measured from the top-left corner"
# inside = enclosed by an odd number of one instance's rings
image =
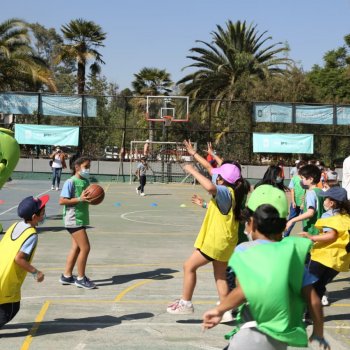
[[[336,271],[348,271],[350,264],[350,216],[334,215],[318,219],[315,227],[329,227],[338,232],[334,242],[316,242],[311,250],[311,259]]]

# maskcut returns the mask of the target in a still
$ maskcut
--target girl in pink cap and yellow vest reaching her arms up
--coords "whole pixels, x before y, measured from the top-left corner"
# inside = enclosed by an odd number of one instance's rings
[[[196,152],[192,151],[190,155],[196,156]],[[195,177],[212,195],[212,199],[194,244],[195,250],[184,263],[182,297],[168,306],[167,312],[170,314],[194,312],[191,300],[196,285],[196,272],[199,267],[209,263],[213,264],[219,299],[222,300],[228,294],[227,261],[238,241],[238,220],[245,195],[241,172],[233,164],[211,169],[211,175],[217,175],[216,183],[192,165],[185,165],[184,170]]]

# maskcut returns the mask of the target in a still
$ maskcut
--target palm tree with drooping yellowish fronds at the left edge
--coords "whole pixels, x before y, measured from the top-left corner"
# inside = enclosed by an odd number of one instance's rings
[[[30,46],[27,24],[17,18],[0,23],[0,89],[56,91],[51,71]]]

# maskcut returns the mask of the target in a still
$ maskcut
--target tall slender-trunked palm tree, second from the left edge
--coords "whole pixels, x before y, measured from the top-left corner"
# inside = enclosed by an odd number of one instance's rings
[[[90,65],[90,71],[94,75],[100,72],[101,64],[105,63],[97,48],[104,47],[103,41],[106,39],[106,33],[102,31],[102,28],[98,24],[92,21],[85,21],[81,18],[63,25],[61,31],[68,44],[61,46],[56,56],[56,62],[59,63],[72,58],[76,60],[78,65],[78,94],[83,94],[85,91],[85,75],[88,61],[93,60],[93,63]]]

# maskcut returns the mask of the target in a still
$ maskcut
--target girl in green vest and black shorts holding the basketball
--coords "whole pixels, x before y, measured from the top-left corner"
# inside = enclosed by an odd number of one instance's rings
[[[64,206],[64,226],[72,238],[72,246],[67,256],[66,267],[59,281],[63,285],[75,284],[79,288],[93,289],[96,285],[85,275],[90,252],[90,242],[86,233],[89,225],[89,186],[91,160],[78,158],[74,162],[73,176],[62,188],[59,204]],[[73,277],[73,268],[77,263],[78,276]]]

